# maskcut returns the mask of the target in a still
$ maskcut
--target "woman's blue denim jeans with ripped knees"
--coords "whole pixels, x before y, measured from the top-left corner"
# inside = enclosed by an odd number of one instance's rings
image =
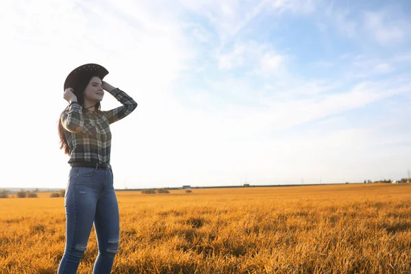
[[[119,251],[119,205],[111,169],[72,167],[64,197],[66,247],[58,274],[77,273],[94,223],[99,254],[93,274],[110,273]]]

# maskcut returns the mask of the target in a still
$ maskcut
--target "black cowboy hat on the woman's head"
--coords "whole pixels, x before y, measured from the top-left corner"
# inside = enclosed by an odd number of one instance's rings
[[[84,64],[67,75],[66,81],[64,82],[64,90],[66,90],[66,88],[75,89],[82,80],[86,78],[90,79],[92,76],[98,76],[103,80],[105,75],[108,75],[108,70],[105,69],[104,66],[100,66],[99,64]]]

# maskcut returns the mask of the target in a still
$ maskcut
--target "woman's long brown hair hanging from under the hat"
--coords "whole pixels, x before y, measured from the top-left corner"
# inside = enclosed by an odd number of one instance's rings
[[[75,97],[77,97],[77,103],[79,103],[80,105],[82,105],[82,108],[84,108],[84,90],[86,90],[88,84],[90,83],[90,80],[92,77],[95,77],[97,75],[90,75],[90,77],[84,77],[84,79],[82,79],[77,86],[75,86],[74,89],[74,95]],[[97,103],[95,105],[95,111],[100,110],[100,102]],[[66,110],[66,108],[64,109]],[[69,147],[69,142],[67,142],[67,138],[66,138],[66,129],[64,129],[63,125],[62,125],[62,114],[64,112],[64,110],[62,111],[62,113],[60,114],[60,118],[58,119],[58,136],[60,138],[60,149],[64,149],[64,153],[67,155],[70,155],[70,147]]]

